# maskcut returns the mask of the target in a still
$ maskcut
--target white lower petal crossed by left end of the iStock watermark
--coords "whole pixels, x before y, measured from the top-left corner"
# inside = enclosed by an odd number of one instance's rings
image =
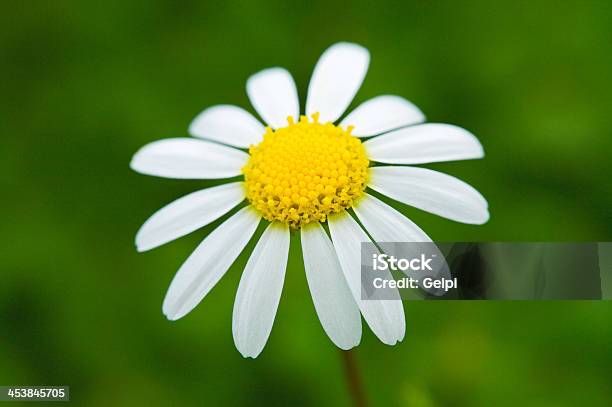
[[[329,230],[346,281],[368,326],[387,345],[401,341],[406,321],[399,292],[395,290],[393,300],[361,299],[361,242],[370,242],[370,239],[346,211],[330,216]],[[382,277],[392,278],[388,272]]]

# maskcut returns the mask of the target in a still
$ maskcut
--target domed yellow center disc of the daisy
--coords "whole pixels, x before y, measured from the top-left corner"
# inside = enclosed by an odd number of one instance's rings
[[[351,207],[367,182],[369,161],[352,128],[312,119],[289,117],[287,127],[267,128],[242,169],[251,204],[294,229]]]

